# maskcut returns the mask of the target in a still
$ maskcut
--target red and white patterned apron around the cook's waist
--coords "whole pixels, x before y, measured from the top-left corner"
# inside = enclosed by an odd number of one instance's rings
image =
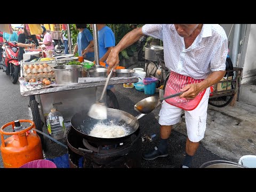
[[[180,92],[180,89],[185,87],[187,84],[200,83],[203,80],[204,79],[193,79],[191,77],[180,75],[171,71],[169,79],[166,83],[164,97]],[[206,90],[199,92],[195,99],[188,100],[185,98],[179,98],[177,96],[174,98],[165,99],[165,101],[170,105],[179,107],[184,110],[193,110],[198,106],[199,102],[204,96],[205,91]]]

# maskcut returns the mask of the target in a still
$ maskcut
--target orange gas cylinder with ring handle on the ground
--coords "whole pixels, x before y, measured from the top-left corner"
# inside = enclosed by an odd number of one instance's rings
[[[35,123],[25,119],[21,119],[19,121],[31,123],[31,126],[17,132],[3,131],[9,125],[12,125],[12,128],[14,129],[15,125],[13,121],[6,123],[0,129],[2,141],[0,149],[5,168],[18,168],[30,161],[43,159],[41,139],[36,134],[36,131],[29,131],[35,128]],[[4,140],[4,135],[12,136]]]

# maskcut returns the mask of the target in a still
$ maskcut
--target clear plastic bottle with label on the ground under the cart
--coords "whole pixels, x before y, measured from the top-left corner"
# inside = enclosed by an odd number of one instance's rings
[[[63,139],[66,135],[66,127],[63,116],[56,109],[51,109],[46,119],[47,131],[54,139]]]

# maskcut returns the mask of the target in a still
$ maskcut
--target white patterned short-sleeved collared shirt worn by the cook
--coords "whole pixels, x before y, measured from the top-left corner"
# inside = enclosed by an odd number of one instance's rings
[[[146,24],[142,33],[163,41],[165,66],[175,73],[205,79],[212,71],[226,69],[228,40],[218,24],[204,24],[187,49],[173,24]]]

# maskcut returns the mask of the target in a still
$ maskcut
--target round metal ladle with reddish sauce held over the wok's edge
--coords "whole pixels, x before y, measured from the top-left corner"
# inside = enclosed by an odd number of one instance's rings
[[[184,92],[185,91],[181,91],[179,93],[175,93],[175,94],[169,95],[169,96],[161,98],[161,99],[158,99],[159,98],[158,96],[151,96],[151,97],[142,99],[141,101],[139,101],[138,103],[136,103],[134,105],[134,109],[142,114],[148,114],[151,111],[153,111],[155,108],[157,108],[158,106],[161,105],[160,101],[163,101],[163,100],[169,99],[169,98],[173,98],[173,97],[177,97]]]

